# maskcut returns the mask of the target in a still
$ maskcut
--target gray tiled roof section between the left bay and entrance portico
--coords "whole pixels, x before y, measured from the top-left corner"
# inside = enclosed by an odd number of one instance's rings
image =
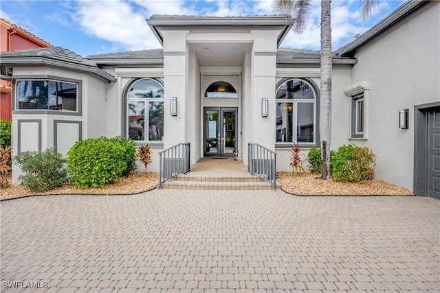
[[[164,51],[162,49],[126,51],[89,55],[86,58],[98,65],[162,65],[164,64]]]

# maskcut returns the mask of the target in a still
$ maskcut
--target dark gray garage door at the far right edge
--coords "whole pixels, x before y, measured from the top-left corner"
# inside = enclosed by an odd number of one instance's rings
[[[440,108],[428,113],[428,196],[440,198]]]

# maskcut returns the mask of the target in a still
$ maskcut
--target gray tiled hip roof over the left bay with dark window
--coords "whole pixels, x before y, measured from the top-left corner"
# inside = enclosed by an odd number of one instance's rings
[[[107,82],[115,82],[113,75],[98,68],[95,62],[83,58],[78,54],[64,49],[63,47],[47,47],[37,49],[25,49],[0,53],[2,75],[5,67],[18,66],[49,66],[74,71],[83,71],[96,75]],[[6,71],[8,71],[6,69]],[[5,72],[10,75],[10,72]]]

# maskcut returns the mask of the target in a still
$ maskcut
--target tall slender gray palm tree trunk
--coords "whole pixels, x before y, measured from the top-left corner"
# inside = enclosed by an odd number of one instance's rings
[[[322,150],[321,179],[329,179],[331,141],[331,0],[321,0],[321,94],[320,139]]]

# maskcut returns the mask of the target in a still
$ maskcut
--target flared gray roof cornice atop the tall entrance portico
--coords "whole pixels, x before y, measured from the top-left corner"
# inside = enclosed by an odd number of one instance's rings
[[[294,19],[288,19],[286,15],[194,16],[153,14],[150,19],[146,19],[146,23],[148,23],[161,45],[164,43],[164,37],[160,31],[170,27],[178,27],[179,29],[193,29],[196,27],[214,27],[216,29],[224,29],[225,27],[234,29],[276,27],[281,29],[281,34],[278,36],[277,41],[279,46],[285,36],[287,36],[287,33],[292,29],[294,21]]]

